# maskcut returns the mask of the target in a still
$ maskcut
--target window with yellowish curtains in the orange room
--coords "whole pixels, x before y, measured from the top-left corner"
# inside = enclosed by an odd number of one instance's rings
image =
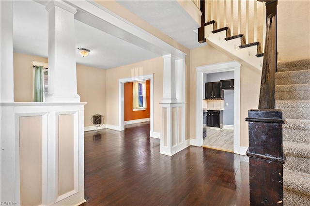
[[[132,108],[133,111],[146,109],[146,86],[145,82],[133,82],[132,84]]]

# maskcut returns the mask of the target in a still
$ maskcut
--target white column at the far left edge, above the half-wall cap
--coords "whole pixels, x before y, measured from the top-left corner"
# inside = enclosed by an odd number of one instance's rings
[[[11,0],[0,1],[0,102],[14,102],[13,11]]]

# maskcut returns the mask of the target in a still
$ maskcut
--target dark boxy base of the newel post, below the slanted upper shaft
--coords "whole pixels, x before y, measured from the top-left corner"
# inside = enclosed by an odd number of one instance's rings
[[[281,110],[248,111],[250,206],[283,205]]]

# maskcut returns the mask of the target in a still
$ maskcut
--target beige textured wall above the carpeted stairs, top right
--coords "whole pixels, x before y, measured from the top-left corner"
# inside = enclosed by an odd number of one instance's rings
[[[278,60],[310,58],[310,1],[279,0]]]

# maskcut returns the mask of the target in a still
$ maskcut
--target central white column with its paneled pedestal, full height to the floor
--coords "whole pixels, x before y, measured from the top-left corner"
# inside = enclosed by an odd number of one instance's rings
[[[185,140],[185,59],[163,56],[160,153],[172,156],[189,146]]]

